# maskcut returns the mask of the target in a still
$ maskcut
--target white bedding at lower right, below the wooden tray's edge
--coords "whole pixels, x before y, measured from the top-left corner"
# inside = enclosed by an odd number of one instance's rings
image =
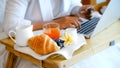
[[[111,46],[70,68],[120,68],[120,43]]]

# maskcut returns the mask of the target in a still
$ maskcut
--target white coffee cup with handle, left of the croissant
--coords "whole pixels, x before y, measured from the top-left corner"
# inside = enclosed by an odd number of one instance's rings
[[[24,25],[16,27],[16,31],[9,31],[9,37],[19,46],[27,46],[27,41],[33,36],[33,25]],[[12,37],[15,35],[15,39]]]

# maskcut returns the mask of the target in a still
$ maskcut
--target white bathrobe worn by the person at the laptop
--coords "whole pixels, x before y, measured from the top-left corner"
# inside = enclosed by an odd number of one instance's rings
[[[5,32],[32,21],[51,21],[69,15],[80,0],[8,0],[5,13]]]

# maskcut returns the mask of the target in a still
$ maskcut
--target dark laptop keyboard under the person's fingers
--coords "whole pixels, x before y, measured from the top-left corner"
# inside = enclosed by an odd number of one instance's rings
[[[77,29],[77,32],[86,35],[93,32],[99,20],[100,18],[94,17],[91,20],[82,23],[81,28]]]

